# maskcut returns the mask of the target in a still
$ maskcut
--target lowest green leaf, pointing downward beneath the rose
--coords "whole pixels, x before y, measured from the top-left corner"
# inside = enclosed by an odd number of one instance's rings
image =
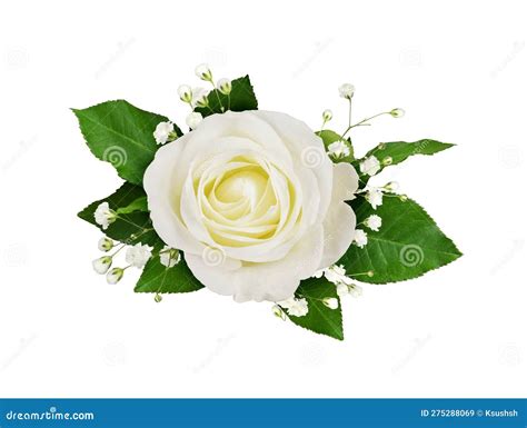
[[[305,298],[308,302],[309,311],[304,317],[288,315],[292,322],[320,335],[344,340],[342,311],[334,283],[329,282],[325,277],[306,279],[300,282],[295,297]],[[338,308],[329,309],[322,301],[325,298],[336,298],[339,301]]]

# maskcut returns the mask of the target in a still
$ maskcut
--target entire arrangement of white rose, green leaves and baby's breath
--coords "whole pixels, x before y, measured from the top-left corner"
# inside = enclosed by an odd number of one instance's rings
[[[236,301],[274,302],[274,313],[344,339],[341,300],[357,282],[421,276],[461,256],[428,213],[396,182],[369,183],[389,166],[434,155],[451,143],[381,142],[357,157],[356,127],[401,118],[402,109],[351,120],[354,86],[340,86],[349,108],[344,131],[320,130],[288,115],[258,110],[249,77],[209,89],[180,86],[189,131],[125,100],[73,109],[91,152],[125,183],[79,217],[97,226],[102,257],[93,269],[115,285],[142,269],[135,291],[162,295],[208,288]],[[116,266],[123,255],[126,266]]]

